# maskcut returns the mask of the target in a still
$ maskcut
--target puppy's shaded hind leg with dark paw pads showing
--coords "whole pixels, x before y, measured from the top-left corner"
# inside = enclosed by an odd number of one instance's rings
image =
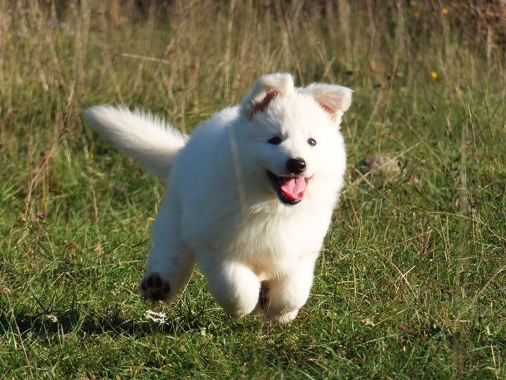
[[[179,205],[167,190],[153,227],[153,248],[140,291],[148,300],[170,300],[190,277],[195,259],[179,237]]]

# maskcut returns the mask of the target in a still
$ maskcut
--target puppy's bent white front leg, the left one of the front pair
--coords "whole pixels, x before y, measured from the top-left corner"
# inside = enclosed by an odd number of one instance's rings
[[[260,281],[257,274],[239,261],[219,260],[205,255],[199,260],[214,299],[234,317],[251,313],[258,303]]]

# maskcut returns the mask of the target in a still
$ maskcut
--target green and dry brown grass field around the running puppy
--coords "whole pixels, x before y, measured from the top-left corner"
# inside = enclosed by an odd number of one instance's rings
[[[437,1],[115,4],[0,1],[0,378],[506,377],[500,36]],[[198,271],[143,302],[163,185],[82,110],[190,132],[274,71],[355,91],[309,302],[232,319]],[[401,170],[358,174],[385,154]]]

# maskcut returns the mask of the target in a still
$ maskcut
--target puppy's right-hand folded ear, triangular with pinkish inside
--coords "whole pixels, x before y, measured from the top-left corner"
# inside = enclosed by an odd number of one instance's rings
[[[313,83],[304,89],[304,93],[313,96],[321,108],[330,113],[332,120],[339,123],[351,106],[353,90],[337,84]]]

